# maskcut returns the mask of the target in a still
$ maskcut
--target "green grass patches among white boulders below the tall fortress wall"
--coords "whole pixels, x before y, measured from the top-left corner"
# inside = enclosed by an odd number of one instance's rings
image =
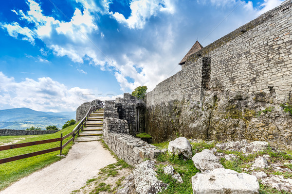
[[[212,149],[216,146],[218,142],[205,142],[199,141],[195,143],[191,143],[193,155],[196,153],[201,152],[203,149]],[[153,144],[154,146],[158,146],[160,148],[167,148],[169,142],[164,142],[160,144]],[[242,152],[237,151],[228,151],[228,150],[220,150],[218,149],[217,152],[224,153],[224,154],[234,154],[237,156],[237,159],[232,161],[227,161],[224,158],[220,159],[221,164],[226,169],[235,170],[238,173],[245,172],[251,174],[252,171],[245,171],[245,168],[249,168],[252,166],[252,162],[258,156],[269,155],[270,156],[270,163],[285,163],[292,160],[292,151],[275,151],[271,147],[264,151],[260,151],[254,154],[244,154]],[[191,178],[196,175],[196,173],[200,172],[198,170],[192,160],[184,160],[183,158],[164,153],[161,154],[157,159],[157,174],[158,179],[162,180],[164,183],[169,184],[166,190],[162,191],[160,194],[192,194],[192,184]],[[163,167],[166,165],[172,165],[174,169],[181,175],[183,178],[183,183],[179,183],[177,180],[172,178],[170,175],[165,175]],[[292,170],[292,163],[290,164],[283,164],[285,167]],[[255,169],[255,171],[263,171],[267,175],[283,175],[284,178],[292,178],[292,173],[287,172],[277,172],[273,171],[269,168],[265,169]],[[260,190],[259,194],[291,194],[285,191],[277,191],[269,186],[263,185],[261,181],[259,181]]]

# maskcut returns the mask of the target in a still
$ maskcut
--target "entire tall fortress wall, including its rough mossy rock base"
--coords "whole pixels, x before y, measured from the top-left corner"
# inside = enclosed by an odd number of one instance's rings
[[[292,1],[188,56],[146,94],[153,141],[183,135],[291,145]]]

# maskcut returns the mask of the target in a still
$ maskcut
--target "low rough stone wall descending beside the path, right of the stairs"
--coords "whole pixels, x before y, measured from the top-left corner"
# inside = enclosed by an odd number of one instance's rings
[[[156,146],[128,134],[126,120],[106,118],[103,124],[103,139],[120,159],[132,166],[145,159],[153,160],[161,153]]]

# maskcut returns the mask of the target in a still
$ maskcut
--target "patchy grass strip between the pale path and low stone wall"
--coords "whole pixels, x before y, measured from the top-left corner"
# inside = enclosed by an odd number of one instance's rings
[[[121,186],[125,176],[133,169],[133,167],[124,160],[120,160],[103,140],[101,140],[101,143],[104,148],[110,151],[110,154],[115,157],[117,162],[100,169],[96,178],[87,180],[85,186],[72,191],[71,194],[114,194]]]

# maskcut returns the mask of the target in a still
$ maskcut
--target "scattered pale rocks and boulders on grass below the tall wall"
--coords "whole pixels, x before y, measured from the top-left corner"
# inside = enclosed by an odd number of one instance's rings
[[[169,149],[169,153],[187,153],[186,151],[174,151],[174,150],[186,150],[189,141],[185,138],[174,140],[175,144],[169,144],[172,148]],[[183,141],[182,141],[183,140]],[[195,142],[196,140],[192,140]],[[184,149],[178,145],[177,142],[183,142]],[[196,141],[197,142],[197,141]],[[206,142],[212,144],[213,142]],[[176,146],[173,146],[176,145]],[[245,140],[237,142],[226,142],[217,144],[213,149],[204,149],[199,153],[196,153],[192,157],[194,165],[201,170],[201,173],[197,173],[192,177],[193,193],[194,194],[258,194],[259,183],[270,186],[278,191],[292,192],[292,179],[284,178],[282,175],[273,175],[267,172],[288,172],[292,173],[292,170],[287,168],[285,165],[291,164],[292,161],[284,164],[273,164],[269,155],[259,156],[255,161],[251,162],[251,167],[243,169],[247,173],[237,173],[234,170],[224,169],[220,164],[219,159],[224,158],[225,160],[237,160],[236,154],[224,154],[217,152],[220,150],[225,151],[237,151],[245,155],[263,151],[268,148],[267,142],[252,142],[248,143]],[[174,148],[175,147],[175,148]],[[170,152],[173,151],[173,152]],[[274,152],[278,150],[272,148]],[[159,150],[159,154],[166,150]],[[179,154],[178,154],[179,155]],[[118,194],[155,194],[162,189],[166,189],[167,184],[158,181],[155,172],[153,161],[142,162],[131,175],[129,175],[122,189],[118,191]],[[260,170],[260,171],[258,171]],[[164,167],[164,173],[171,175],[177,179],[178,182],[182,183],[183,179],[178,174],[173,166],[167,165]]]

